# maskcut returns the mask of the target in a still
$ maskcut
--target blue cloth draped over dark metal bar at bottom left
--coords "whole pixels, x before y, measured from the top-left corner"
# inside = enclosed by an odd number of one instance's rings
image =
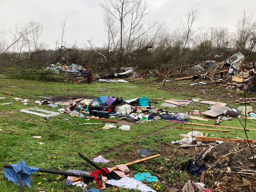
[[[24,186],[31,187],[30,182],[32,182],[32,179],[29,175],[37,172],[38,168],[27,166],[22,159],[18,164],[11,164],[11,166],[12,168],[4,168],[4,176],[8,181],[12,181],[17,185],[20,185],[18,172],[21,172],[22,184]]]

